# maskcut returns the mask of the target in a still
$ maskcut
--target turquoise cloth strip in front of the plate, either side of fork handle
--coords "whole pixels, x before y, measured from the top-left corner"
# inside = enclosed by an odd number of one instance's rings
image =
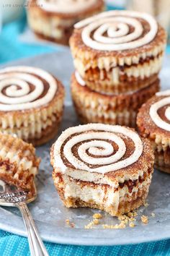
[[[166,228],[166,227],[165,227]],[[136,245],[114,247],[85,247],[74,245],[51,244],[45,242],[50,256],[169,256],[169,240]],[[0,231],[1,256],[30,255],[27,239]]]

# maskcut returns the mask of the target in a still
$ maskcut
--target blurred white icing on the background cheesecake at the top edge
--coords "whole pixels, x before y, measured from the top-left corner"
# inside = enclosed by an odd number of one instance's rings
[[[75,13],[88,9],[97,0],[37,0],[37,4],[47,12]]]

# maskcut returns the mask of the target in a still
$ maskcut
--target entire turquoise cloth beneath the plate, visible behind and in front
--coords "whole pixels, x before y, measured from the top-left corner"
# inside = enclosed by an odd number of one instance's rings
[[[14,59],[35,56],[37,54],[57,51],[51,46],[28,45],[19,42],[18,35],[26,25],[25,17],[3,27],[0,35],[0,63]],[[167,49],[170,53],[170,46]],[[166,229],[166,226],[165,226]],[[45,242],[50,256],[67,255],[170,255],[170,240],[146,244],[115,246],[115,247],[80,247],[71,245],[51,244]],[[0,231],[1,256],[26,256],[30,255],[27,239],[22,236]]]

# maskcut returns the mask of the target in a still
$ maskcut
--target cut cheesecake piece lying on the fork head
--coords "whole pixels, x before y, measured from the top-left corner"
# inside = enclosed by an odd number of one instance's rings
[[[0,133],[0,179],[16,186],[21,191],[35,194],[35,175],[40,158],[35,155],[35,148],[12,135]]]

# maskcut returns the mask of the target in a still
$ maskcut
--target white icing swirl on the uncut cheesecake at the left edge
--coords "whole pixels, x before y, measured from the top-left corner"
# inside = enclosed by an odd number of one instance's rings
[[[46,89],[45,84],[48,86]],[[42,69],[24,66],[1,69],[0,111],[17,111],[45,105],[53,100],[57,88],[55,78]]]

